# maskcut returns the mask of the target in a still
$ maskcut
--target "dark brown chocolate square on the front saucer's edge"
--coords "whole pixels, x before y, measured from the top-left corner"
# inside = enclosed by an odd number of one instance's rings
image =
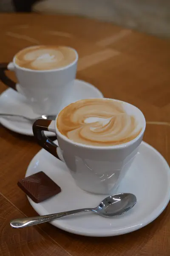
[[[40,203],[61,192],[61,188],[44,172],[25,177],[17,184],[35,203]]]

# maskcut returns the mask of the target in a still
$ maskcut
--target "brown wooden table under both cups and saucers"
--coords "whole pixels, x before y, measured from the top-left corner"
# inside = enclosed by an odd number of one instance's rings
[[[105,97],[140,108],[147,120],[144,141],[170,163],[170,41],[110,23],[36,14],[1,14],[0,31],[0,62],[11,61],[18,50],[35,44],[77,49],[77,78],[94,84]],[[36,214],[17,181],[40,147],[33,137],[4,127],[0,134],[0,255],[170,256],[170,204],[147,227],[117,237],[76,236],[50,224],[11,229],[11,218]]]

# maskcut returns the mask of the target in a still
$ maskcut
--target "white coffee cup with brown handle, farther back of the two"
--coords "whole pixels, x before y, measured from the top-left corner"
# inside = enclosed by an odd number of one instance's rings
[[[64,67],[51,70],[31,70],[20,67],[13,62],[0,64],[0,79],[4,84],[26,96],[33,111],[38,114],[57,114],[73,89],[77,70],[78,54],[76,58]],[[5,70],[14,71],[18,84],[9,79]]]

